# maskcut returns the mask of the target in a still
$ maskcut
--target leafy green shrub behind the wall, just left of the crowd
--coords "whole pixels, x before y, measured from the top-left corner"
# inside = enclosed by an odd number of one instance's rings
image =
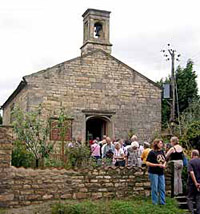
[[[90,149],[83,145],[68,147],[65,155],[67,157],[67,168],[86,167],[90,160]]]

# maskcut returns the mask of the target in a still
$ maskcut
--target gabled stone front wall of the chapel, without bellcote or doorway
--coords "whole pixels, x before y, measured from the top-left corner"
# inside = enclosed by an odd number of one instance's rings
[[[44,116],[55,116],[64,107],[74,118],[74,137],[84,137],[84,109],[116,112],[116,137],[126,137],[132,129],[140,140],[150,140],[160,131],[160,89],[101,51],[25,78],[28,109],[41,102]]]

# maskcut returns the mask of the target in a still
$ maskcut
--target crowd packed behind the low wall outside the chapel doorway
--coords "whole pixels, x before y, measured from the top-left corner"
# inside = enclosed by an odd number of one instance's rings
[[[138,166],[145,165],[145,161],[150,151],[150,144],[144,142],[138,143],[136,135],[133,135],[131,141],[123,139],[111,140],[110,137],[103,136],[90,141],[91,156],[98,164],[110,164],[115,166]],[[106,160],[106,161],[105,161]]]

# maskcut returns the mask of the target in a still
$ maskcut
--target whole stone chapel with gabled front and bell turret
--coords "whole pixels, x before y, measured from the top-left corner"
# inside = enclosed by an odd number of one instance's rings
[[[82,16],[81,55],[24,76],[1,106],[3,125],[11,123],[16,104],[24,111],[41,104],[44,118],[67,111],[69,140],[126,138],[130,130],[139,141],[151,140],[161,130],[161,88],[111,55],[109,11],[87,9]]]

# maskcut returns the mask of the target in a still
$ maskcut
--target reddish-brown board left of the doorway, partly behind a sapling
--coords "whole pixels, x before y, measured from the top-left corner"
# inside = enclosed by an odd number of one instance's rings
[[[61,132],[64,131],[64,140],[72,140],[72,122],[73,119],[67,119],[64,123],[64,127],[60,127],[58,118],[50,119],[50,140],[61,141]],[[62,130],[62,131],[61,131]]]

